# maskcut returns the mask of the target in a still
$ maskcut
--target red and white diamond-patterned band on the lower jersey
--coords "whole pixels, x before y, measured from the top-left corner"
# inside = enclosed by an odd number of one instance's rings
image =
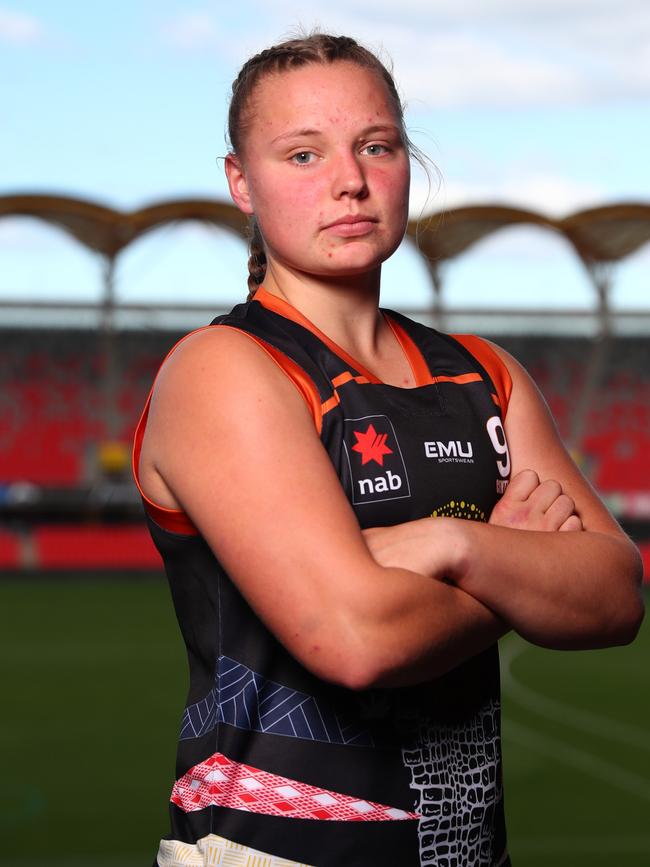
[[[291,819],[325,819],[344,822],[386,822],[419,819],[373,801],[320,789],[287,777],[279,777],[215,753],[177,780],[171,801],[186,813],[206,807],[231,807],[249,813],[287,816]]]

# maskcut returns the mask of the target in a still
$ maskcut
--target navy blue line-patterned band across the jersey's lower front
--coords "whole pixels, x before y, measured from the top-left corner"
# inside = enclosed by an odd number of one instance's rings
[[[181,740],[198,738],[217,725],[330,744],[372,747],[372,735],[304,692],[275,683],[240,662],[220,656],[208,695],[185,708]]]

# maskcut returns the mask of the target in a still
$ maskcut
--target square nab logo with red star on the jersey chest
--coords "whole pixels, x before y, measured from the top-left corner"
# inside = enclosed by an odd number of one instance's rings
[[[388,416],[346,418],[343,446],[355,505],[411,496],[404,458]]]

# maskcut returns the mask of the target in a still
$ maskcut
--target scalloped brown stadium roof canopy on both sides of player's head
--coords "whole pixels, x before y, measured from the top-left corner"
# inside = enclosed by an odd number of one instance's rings
[[[159,202],[137,211],[118,211],[67,196],[0,196],[0,217],[45,220],[84,246],[114,259],[141,235],[167,223],[202,220],[245,235],[246,217],[232,204],[205,199]],[[564,235],[587,264],[617,262],[650,241],[650,204],[614,204],[553,219],[504,205],[478,205],[439,211],[408,225],[430,268],[465,252],[493,232],[529,224]]]

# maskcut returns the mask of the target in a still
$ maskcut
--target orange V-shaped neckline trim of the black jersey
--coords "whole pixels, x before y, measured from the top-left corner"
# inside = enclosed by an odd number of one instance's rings
[[[285,319],[289,319],[292,322],[295,322],[298,325],[301,325],[307,331],[311,332],[315,337],[317,337],[322,343],[327,346],[327,348],[349,364],[352,368],[354,368],[358,373],[362,376],[366,377],[366,379],[374,383],[375,385],[386,385],[379,377],[375,376],[370,370],[364,367],[360,362],[353,358],[349,352],[346,352],[343,347],[339,346],[338,343],[335,343],[331,338],[327,336],[323,331],[320,330],[313,322],[307,319],[299,310],[297,310],[293,305],[289,304],[288,301],[285,301],[283,298],[279,298],[277,295],[272,295],[268,292],[263,286],[260,286],[259,289],[255,292],[253,296],[253,301],[258,301],[262,307],[266,310],[271,310],[273,313],[277,313],[279,316],[284,316]],[[411,368],[411,372],[413,374],[413,378],[415,380],[415,388],[419,388],[424,385],[432,385],[435,382],[434,377],[429,370],[429,366],[424,360],[424,356],[420,352],[419,348],[415,344],[415,342],[411,339],[410,335],[402,328],[402,326],[396,322],[394,319],[384,311],[380,311],[384,320],[388,324],[389,328],[395,335],[395,339],[399,343],[402,352],[404,353],[406,360],[408,362],[409,367]],[[403,386],[394,386],[395,388],[400,388]],[[408,389],[407,389],[408,390]]]

